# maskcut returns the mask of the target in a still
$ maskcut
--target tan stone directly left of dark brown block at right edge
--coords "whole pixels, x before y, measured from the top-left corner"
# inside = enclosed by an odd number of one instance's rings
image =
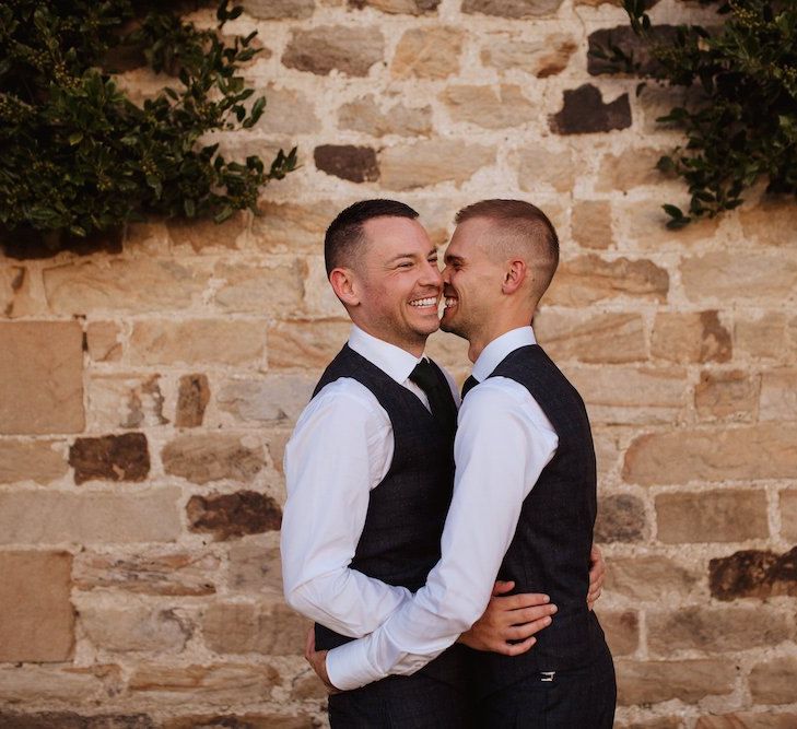
[[[665,556],[612,557],[606,590],[635,602],[659,602],[663,595],[687,597],[700,580],[698,572]]]

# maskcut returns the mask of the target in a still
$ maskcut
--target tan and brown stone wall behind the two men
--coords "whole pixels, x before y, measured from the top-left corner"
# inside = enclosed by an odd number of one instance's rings
[[[618,726],[797,726],[795,207],[664,227],[685,195],[652,169],[679,141],[655,118],[677,95],[590,66],[625,26],[612,4],[244,4],[269,106],[224,148],[295,142],[303,165],[262,216],[2,259],[0,724],[323,725],[278,541],[284,443],[348,330],[324,227],[396,197],[443,244],[500,196],[562,238],[536,327],[595,427]],[[465,377],[461,342],[432,351]]]

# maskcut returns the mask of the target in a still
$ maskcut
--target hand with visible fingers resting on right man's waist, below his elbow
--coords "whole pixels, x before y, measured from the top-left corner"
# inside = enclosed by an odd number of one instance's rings
[[[467,633],[459,636],[459,643],[504,656],[519,656],[537,643],[535,633],[551,624],[556,605],[550,603],[547,595],[501,597],[514,587],[515,583],[495,583],[484,614]]]

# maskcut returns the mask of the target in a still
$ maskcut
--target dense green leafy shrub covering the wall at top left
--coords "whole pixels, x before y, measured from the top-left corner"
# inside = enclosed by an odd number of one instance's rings
[[[151,213],[221,222],[235,210],[254,210],[261,187],[294,169],[295,149],[280,150],[267,167],[258,156],[227,161],[218,143],[207,142],[209,132],[250,128],[266,106],[263,97],[250,99],[254,90],[238,73],[258,52],[256,34],[221,35],[241,9],[224,0],[218,28],[199,30],[162,5],[168,3],[0,5],[0,224],[7,232],[58,231],[66,233],[59,245],[69,245]],[[175,83],[137,106],[114,80],[120,51],[142,56]]]

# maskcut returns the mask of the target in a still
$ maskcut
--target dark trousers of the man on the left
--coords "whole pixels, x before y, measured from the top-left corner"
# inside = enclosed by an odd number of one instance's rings
[[[472,719],[465,681],[425,673],[391,675],[329,697],[332,729],[469,729]]]

